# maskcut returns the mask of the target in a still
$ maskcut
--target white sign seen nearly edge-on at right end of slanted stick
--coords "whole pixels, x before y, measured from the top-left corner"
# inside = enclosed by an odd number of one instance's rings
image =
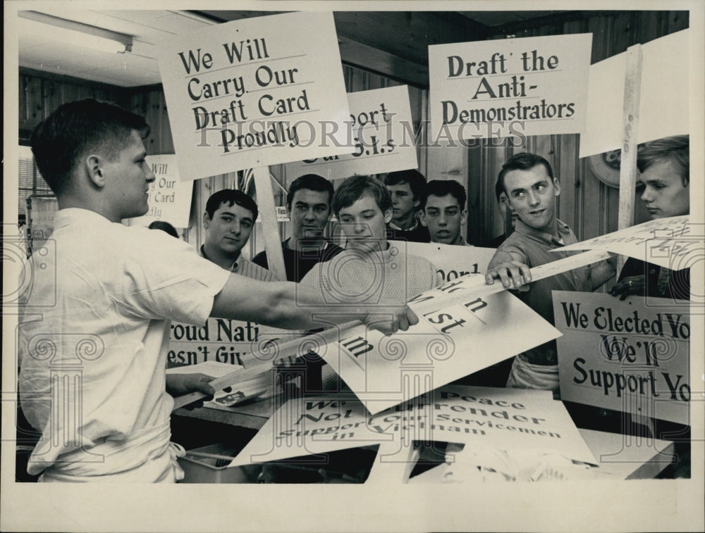
[[[671,270],[690,268],[702,261],[705,228],[690,215],[656,218],[625,230],[564,246],[563,251],[604,250],[620,253]]]

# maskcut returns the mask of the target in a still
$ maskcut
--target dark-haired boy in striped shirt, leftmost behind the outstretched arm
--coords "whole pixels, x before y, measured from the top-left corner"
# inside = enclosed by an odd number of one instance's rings
[[[275,281],[272,272],[247,261],[241,253],[250,240],[258,212],[257,203],[242,191],[223,189],[212,194],[203,213],[206,239],[199,249],[200,256],[235,274]]]

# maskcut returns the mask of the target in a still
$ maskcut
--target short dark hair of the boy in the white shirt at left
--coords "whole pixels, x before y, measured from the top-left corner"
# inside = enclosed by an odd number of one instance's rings
[[[86,99],[63,104],[32,132],[30,144],[39,173],[54,194],[66,191],[78,159],[102,151],[113,160],[128,144],[133,130],[149,135],[145,118],[112,102]]]

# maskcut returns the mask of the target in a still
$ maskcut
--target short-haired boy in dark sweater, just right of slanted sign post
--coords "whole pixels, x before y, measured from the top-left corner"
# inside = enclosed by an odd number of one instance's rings
[[[300,282],[313,265],[341,253],[343,249],[324,237],[331,220],[333,184],[316,174],[294,180],[286,195],[286,211],[291,221],[290,239],[281,243],[286,279]],[[252,263],[269,268],[266,251],[252,258]]]

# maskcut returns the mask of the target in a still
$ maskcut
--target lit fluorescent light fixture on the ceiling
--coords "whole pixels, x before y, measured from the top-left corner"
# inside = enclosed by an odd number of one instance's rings
[[[18,11],[20,32],[46,37],[52,41],[84,46],[109,54],[122,54],[132,51],[132,36],[111,32],[90,24],[77,23],[66,18],[45,15],[38,11]]]

